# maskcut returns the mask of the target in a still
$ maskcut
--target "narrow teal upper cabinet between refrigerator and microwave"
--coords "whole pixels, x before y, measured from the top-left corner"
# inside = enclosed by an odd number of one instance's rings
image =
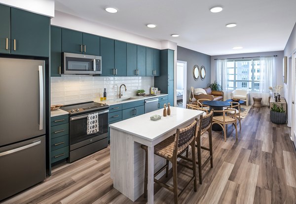
[[[62,69],[62,29],[50,28],[50,76],[61,76]]]

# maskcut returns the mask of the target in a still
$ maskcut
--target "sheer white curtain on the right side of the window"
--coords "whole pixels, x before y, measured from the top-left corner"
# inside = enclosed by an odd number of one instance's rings
[[[276,85],[275,57],[260,58],[260,85],[259,92],[262,96],[262,105],[268,105],[269,87]]]

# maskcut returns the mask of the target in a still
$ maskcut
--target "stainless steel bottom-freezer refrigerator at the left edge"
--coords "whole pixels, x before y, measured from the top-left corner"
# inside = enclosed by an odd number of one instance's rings
[[[45,179],[44,67],[0,58],[0,201]]]

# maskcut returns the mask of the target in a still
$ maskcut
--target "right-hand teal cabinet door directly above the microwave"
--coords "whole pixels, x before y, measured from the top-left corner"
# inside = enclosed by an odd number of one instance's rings
[[[83,54],[100,56],[100,36],[83,33]]]

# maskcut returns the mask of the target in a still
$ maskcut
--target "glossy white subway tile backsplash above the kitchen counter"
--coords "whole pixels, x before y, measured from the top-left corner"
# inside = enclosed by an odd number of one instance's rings
[[[119,87],[126,85],[127,91],[123,91],[123,97],[132,97],[137,90],[144,89],[149,93],[154,85],[152,76],[76,76],[62,75],[51,77],[51,104],[71,104],[98,100],[100,92],[106,88],[107,99],[119,97]]]

